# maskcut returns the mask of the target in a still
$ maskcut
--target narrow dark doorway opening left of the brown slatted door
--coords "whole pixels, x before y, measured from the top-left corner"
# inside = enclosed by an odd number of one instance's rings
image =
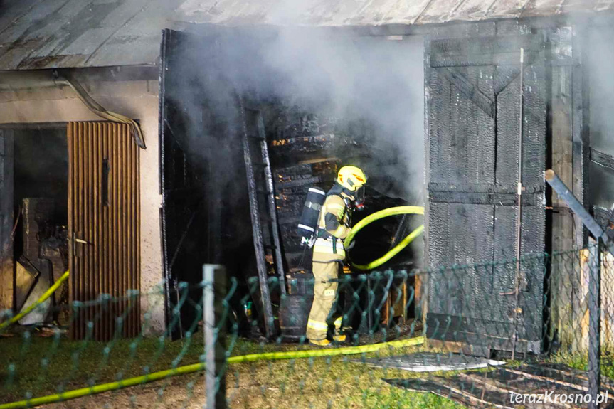
[[[28,307],[68,270],[65,124],[13,129],[14,309]],[[65,282],[20,324],[68,324]]]

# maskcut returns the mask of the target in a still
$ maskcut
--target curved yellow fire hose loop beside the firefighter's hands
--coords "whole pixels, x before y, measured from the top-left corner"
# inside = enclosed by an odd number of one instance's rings
[[[366,218],[356,223],[356,225],[351,229],[351,233],[349,233],[349,235],[346,237],[344,241],[345,247],[346,248],[349,247],[349,245],[351,244],[351,241],[354,240],[356,233],[358,233],[366,225],[369,225],[373,223],[374,221],[379,220],[381,218],[385,218],[388,216],[396,216],[400,214],[424,214],[424,208],[422,206],[398,206],[398,207],[387,208],[381,211],[377,211],[369,216],[366,216]],[[401,240],[401,243],[398,243],[398,245],[394,246],[392,250],[388,251],[388,253],[379,257],[377,260],[369,262],[369,264],[357,265],[351,262],[351,265],[352,267],[357,268],[358,270],[372,270],[374,268],[377,268],[380,265],[383,265],[383,263],[390,260],[395,255],[397,255],[401,250],[406,248],[409,245],[409,243],[411,243],[415,238],[417,238],[420,234],[422,234],[423,231],[424,231],[424,225],[418,226],[418,228],[413,230],[413,232],[409,233],[409,235],[406,238]]]

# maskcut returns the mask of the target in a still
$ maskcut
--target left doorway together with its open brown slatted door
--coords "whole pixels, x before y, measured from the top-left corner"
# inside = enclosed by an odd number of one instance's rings
[[[75,339],[135,336],[139,295],[129,290],[140,283],[139,147],[128,125],[3,127],[0,147],[0,306],[18,313],[70,271],[18,323],[65,326]],[[112,306],[93,302],[101,294]],[[75,302],[93,303],[75,315],[67,308]],[[124,321],[116,325],[118,316]]]

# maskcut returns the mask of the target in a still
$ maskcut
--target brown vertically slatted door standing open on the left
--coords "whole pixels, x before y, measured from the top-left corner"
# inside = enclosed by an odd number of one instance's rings
[[[100,299],[74,310],[72,336],[136,336],[139,296],[129,290],[140,287],[139,147],[126,124],[68,124],[68,231],[70,305]]]

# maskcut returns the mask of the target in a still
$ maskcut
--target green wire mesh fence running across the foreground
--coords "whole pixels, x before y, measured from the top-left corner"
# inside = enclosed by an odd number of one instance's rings
[[[51,326],[2,312],[0,408],[573,408],[591,407],[597,384],[614,396],[614,257],[595,247],[340,270],[328,282],[337,290],[320,294],[334,298],[318,327],[327,345],[306,336],[321,301],[312,275],[290,277],[283,295],[270,277],[266,339],[257,277],[198,274],[177,286],[163,328],[152,317],[164,283],[33,308],[65,317]],[[137,308],[139,331],[129,331]]]

